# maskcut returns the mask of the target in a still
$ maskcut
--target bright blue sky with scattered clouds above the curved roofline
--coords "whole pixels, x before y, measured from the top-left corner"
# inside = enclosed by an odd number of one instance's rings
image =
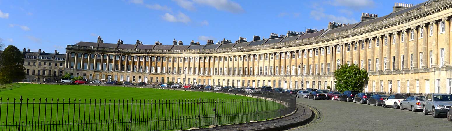
[[[362,12],[384,16],[394,2],[424,0],[0,0],[0,40],[47,52],[97,36],[126,44],[251,41],[253,35],[327,28],[330,21],[356,23]]]

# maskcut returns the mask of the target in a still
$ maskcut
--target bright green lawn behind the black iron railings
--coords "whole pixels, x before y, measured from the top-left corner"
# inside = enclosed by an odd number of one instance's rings
[[[33,130],[187,129],[278,117],[273,111],[283,107],[238,95],[89,85],[7,84],[0,86],[0,97],[0,130],[17,130],[3,125],[19,123]]]

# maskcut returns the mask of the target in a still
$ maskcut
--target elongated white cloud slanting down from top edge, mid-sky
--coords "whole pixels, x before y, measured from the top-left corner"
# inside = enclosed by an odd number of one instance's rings
[[[193,0],[200,5],[209,5],[218,10],[228,11],[231,13],[242,13],[245,10],[239,4],[229,0]]]

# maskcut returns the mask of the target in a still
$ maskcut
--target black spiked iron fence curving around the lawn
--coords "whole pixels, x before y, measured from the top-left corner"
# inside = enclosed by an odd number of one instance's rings
[[[273,119],[296,111],[293,95],[253,95],[264,98],[0,98],[0,131],[184,130]]]

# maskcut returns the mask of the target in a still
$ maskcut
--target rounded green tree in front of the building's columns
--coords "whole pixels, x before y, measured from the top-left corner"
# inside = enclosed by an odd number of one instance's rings
[[[345,90],[363,91],[364,84],[369,80],[367,70],[359,68],[357,65],[340,65],[334,71],[336,79],[336,89],[340,92]]]

